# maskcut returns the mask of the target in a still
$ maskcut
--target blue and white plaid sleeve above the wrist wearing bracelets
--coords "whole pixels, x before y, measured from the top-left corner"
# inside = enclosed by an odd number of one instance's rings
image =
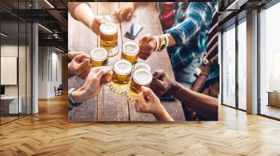
[[[207,3],[190,3],[186,12],[188,15],[183,22],[166,31],[173,36],[176,45],[186,45],[212,17],[212,8]]]

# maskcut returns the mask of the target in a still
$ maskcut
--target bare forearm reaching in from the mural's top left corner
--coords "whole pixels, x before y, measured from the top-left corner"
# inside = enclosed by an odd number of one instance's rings
[[[80,3],[78,6],[76,6],[71,16],[75,17],[76,20],[82,22],[85,24],[85,26],[91,29],[94,14],[87,3]]]

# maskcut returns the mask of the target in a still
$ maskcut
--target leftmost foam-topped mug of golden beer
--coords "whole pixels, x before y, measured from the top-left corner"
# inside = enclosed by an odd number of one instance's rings
[[[90,65],[92,68],[108,65],[108,52],[102,47],[92,49],[90,52]]]

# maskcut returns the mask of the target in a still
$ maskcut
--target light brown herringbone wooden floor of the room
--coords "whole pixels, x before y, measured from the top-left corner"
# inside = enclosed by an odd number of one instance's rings
[[[280,155],[280,122],[219,107],[218,122],[69,123],[66,96],[0,126],[0,155]]]

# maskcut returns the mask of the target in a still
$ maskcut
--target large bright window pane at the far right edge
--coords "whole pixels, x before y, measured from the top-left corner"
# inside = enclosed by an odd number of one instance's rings
[[[280,118],[279,15],[280,3],[260,12],[260,114],[274,118]]]

